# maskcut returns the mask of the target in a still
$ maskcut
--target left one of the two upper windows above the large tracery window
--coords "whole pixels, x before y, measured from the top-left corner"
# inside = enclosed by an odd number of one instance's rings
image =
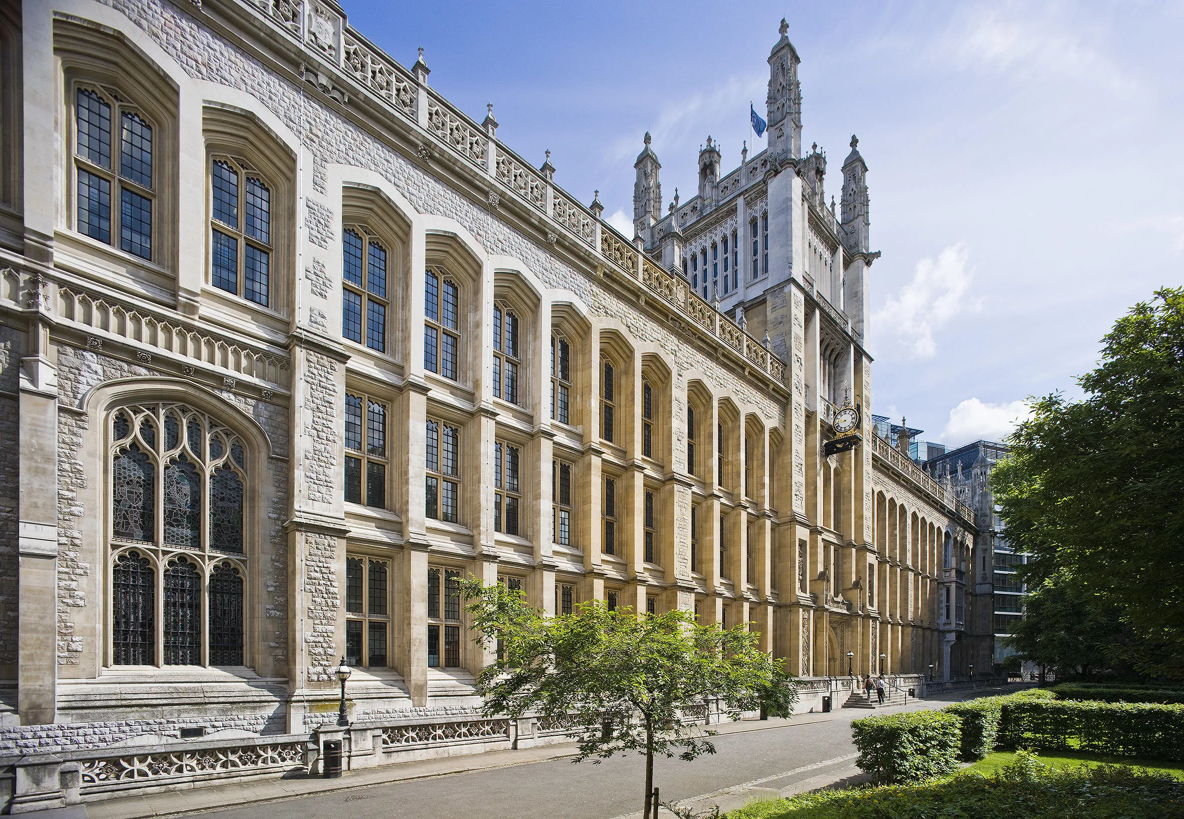
[[[150,260],[156,196],[152,124],[101,88],[77,90],[75,124],[78,232]]]

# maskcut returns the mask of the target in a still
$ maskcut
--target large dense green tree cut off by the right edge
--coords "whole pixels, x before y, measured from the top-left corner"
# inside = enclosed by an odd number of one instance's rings
[[[1068,572],[1133,632],[1144,673],[1184,676],[1184,289],[1115,322],[1085,397],[1035,399],[991,476],[1032,582]]]

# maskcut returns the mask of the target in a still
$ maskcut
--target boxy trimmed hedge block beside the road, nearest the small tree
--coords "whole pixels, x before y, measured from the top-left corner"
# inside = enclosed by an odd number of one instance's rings
[[[913,711],[856,719],[856,764],[880,785],[908,785],[958,768],[961,721],[941,711]]]

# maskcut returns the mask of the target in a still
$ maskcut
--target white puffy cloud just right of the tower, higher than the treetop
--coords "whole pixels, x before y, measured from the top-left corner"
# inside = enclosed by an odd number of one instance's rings
[[[938,352],[934,331],[963,309],[978,309],[977,303],[966,303],[972,277],[967,261],[966,245],[959,243],[942,250],[937,261],[918,262],[913,280],[876,311],[877,333],[912,358],[933,358]]]

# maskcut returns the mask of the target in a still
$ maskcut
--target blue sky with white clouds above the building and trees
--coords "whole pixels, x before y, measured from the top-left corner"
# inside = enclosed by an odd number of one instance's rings
[[[349,21],[631,235],[652,134],[667,201],[725,172],[764,116],[789,23],[803,145],[828,193],[851,134],[868,164],[871,410],[960,446],[1029,396],[1080,395],[1101,337],[1184,283],[1184,0],[504,2],[347,0]],[[764,140],[761,140],[764,141]]]

